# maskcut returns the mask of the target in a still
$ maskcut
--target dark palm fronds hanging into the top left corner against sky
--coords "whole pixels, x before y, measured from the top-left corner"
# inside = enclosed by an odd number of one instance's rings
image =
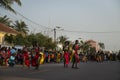
[[[16,13],[15,10],[12,8],[14,2],[21,6],[20,0],[0,0],[0,7],[3,7],[6,10]]]

